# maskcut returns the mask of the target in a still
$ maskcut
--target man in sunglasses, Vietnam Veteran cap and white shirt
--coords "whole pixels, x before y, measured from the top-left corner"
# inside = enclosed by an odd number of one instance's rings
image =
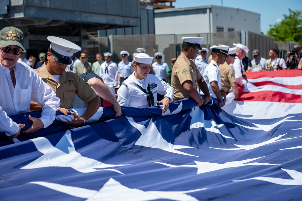
[[[46,128],[55,119],[60,99],[45,84],[37,73],[24,62],[18,61],[24,51],[24,35],[15,27],[5,27],[0,31],[0,131],[8,139],[14,139],[25,126],[11,120],[9,115],[29,112],[31,100],[43,106],[40,118],[30,115],[33,122],[24,133]]]

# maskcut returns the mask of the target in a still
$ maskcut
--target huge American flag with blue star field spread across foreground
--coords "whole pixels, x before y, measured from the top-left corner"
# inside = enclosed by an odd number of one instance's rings
[[[111,119],[105,107],[98,123],[2,138],[0,199],[301,200],[301,76],[247,73],[223,110],[184,99]]]

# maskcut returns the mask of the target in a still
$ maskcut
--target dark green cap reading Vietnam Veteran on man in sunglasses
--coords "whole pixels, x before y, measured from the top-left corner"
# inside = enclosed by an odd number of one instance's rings
[[[0,46],[7,47],[10,45],[16,45],[24,49],[24,35],[23,32],[16,27],[4,27],[0,31]]]

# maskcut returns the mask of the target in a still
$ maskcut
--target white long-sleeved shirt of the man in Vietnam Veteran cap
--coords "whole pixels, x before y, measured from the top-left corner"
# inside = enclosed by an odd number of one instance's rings
[[[60,99],[55,92],[24,62],[14,66],[16,85],[14,87],[10,71],[0,63],[0,131],[11,136],[19,131],[17,123],[8,115],[29,112],[31,100],[43,106],[40,120],[44,128],[53,123]]]

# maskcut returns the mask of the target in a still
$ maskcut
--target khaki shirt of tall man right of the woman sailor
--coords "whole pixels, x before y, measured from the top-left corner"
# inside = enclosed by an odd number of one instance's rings
[[[182,84],[186,80],[190,80],[193,82],[193,86],[197,88],[196,81],[200,78],[201,73],[194,61],[188,59],[187,56],[181,53],[172,68],[171,85],[175,90],[173,100],[178,101],[190,97],[182,87]]]

